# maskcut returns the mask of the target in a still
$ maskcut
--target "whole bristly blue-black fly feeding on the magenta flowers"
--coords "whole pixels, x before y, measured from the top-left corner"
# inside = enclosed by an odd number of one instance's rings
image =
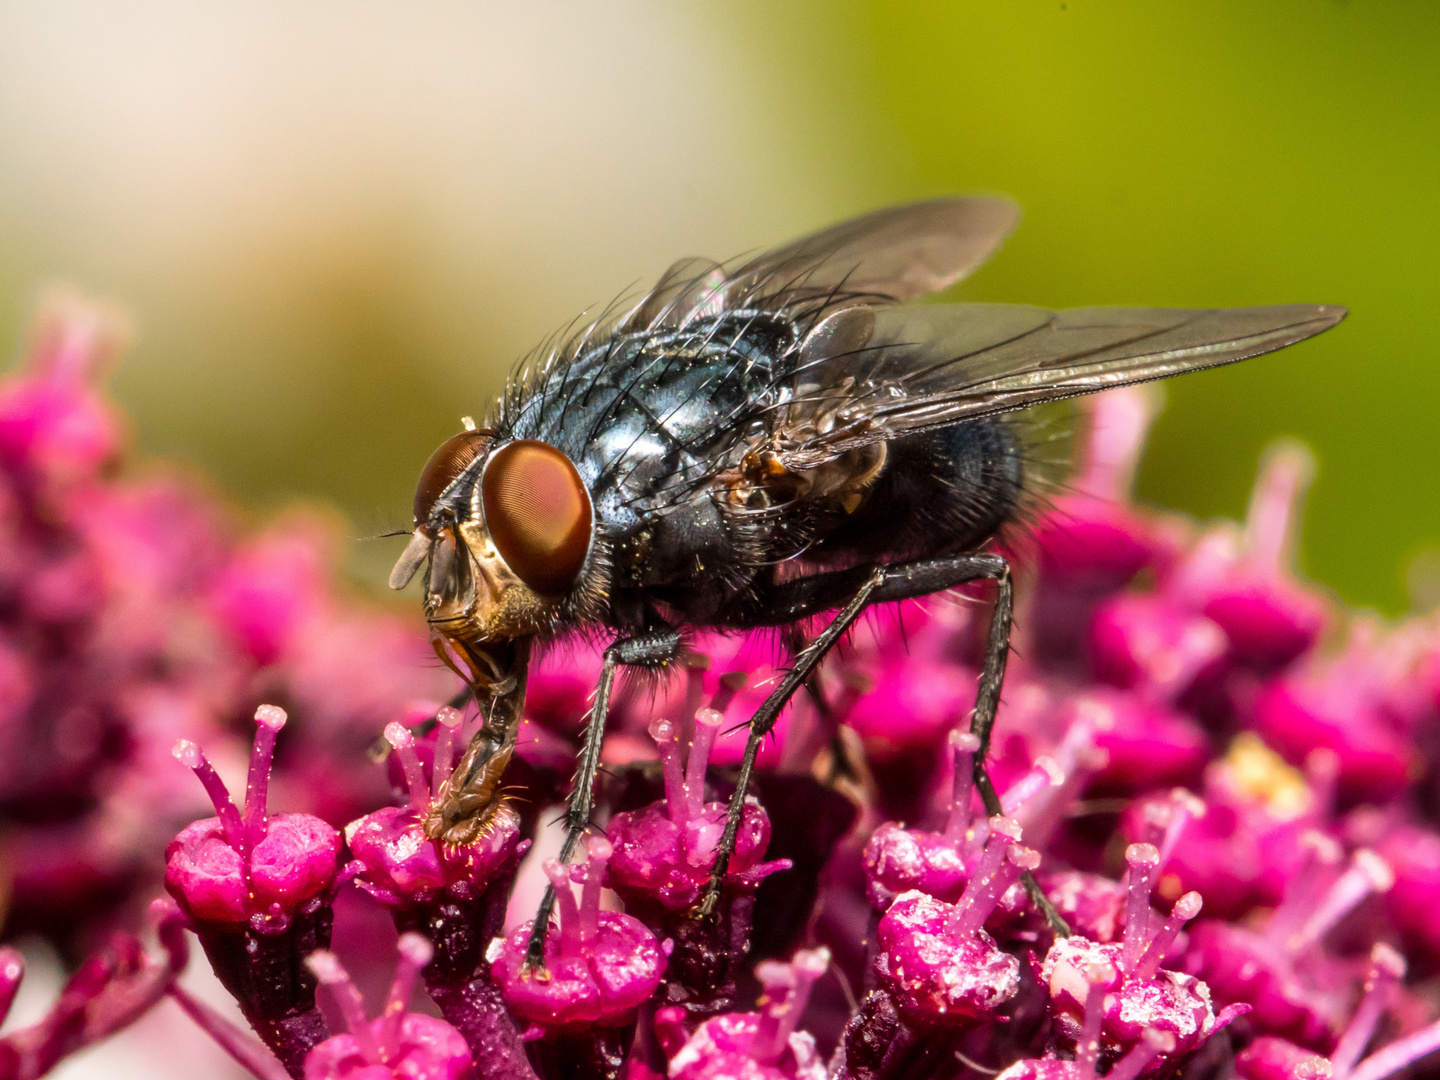
[[[467,420],[435,451],[390,586],[426,567],[436,651],[484,720],[431,812],[432,838],[472,841],[498,805],[531,644],[612,635],[564,861],[590,818],[619,667],[672,664],[687,628],[792,628],[835,612],[750,720],[706,914],[760,743],[816,664],[868,605],[985,579],[996,599],[971,730],[976,788],[1001,812],[984,756],[1012,603],[988,543],[1025,504],[1020,412],[1244,360],[1345,317],[1306,304],[909,304],[971,272],[1015,220],[1004,200],[940,199],[742,265],[684,259],[628,311],[523,364],[484,426]]]

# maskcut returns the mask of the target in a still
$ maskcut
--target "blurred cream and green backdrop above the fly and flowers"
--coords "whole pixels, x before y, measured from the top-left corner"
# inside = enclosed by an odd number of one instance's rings
[[[1002,192],[1025,220],[962,297],[1351,307],[1172,382],[1139,492],[1240,516],[1299,436],[1305,570],[1398,612],[1440,544],[1437,32],[1378,0],[3,0],[0,333],[55,278],[121,300],[147,454],[379,531],[521,353],[672,258]]]

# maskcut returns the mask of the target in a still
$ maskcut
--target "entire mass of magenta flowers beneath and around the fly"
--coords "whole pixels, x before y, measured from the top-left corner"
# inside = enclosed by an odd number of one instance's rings
[[[475,844],[436,844],[478,717],[441,707],[418,616],[337,599],[294,523],[236,541],[193,490],[117,478],[105,340],[72,302],[0,386],[7,932],[49,916],[91,953],[0,1038],[0,1079],[166,998],[265,1080],[1440,1074],[1440,622],[1295,580],[1302,452],[1267,458],[1243,527],[1201,528],[1129,503],[1149,399],[1096,399],[1076,484],[1007,540],[1001,812],[968,730],[986,595],[878,612],[768,740],[700,917],[773,655],[701,635],[683,677],[625,688],[562,864],[546,828],[599,660],[550,654],[505,799]],[[190,792],[213,816],[177,821]],[[161,883],[161,959],[98,945]],[[390,966],[366,906],[399,935],[377,1014],[347,973]],[[253,1034],[176,984],[181,929]],[[0,950],[0,1007],[20,973]]]

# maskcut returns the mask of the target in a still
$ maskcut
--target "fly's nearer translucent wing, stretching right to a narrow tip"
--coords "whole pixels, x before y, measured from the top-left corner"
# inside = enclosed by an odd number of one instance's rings
[[[1336,305],[1073,308],[952,304],[838,311],[806,337],[795,396],[770,418],[791,471],[1041,402],[1165,379],[1303,341]]]

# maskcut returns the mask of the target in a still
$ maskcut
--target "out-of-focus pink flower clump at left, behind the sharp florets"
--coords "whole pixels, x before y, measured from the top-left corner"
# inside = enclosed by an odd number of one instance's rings
[[[288,804],[344,821],[384,795],[364,768],[379,729],[451,693],[419,628],[325,580],[321,518],[245,536],[181,475],[121,471],[99,389],[120,334],[114,312],[55,295],[0,380],[6,930],[71,955],[134,922],[203,805],[177,739],[229,772],[256,706],[284,703],[305,717],[278,749]]]

